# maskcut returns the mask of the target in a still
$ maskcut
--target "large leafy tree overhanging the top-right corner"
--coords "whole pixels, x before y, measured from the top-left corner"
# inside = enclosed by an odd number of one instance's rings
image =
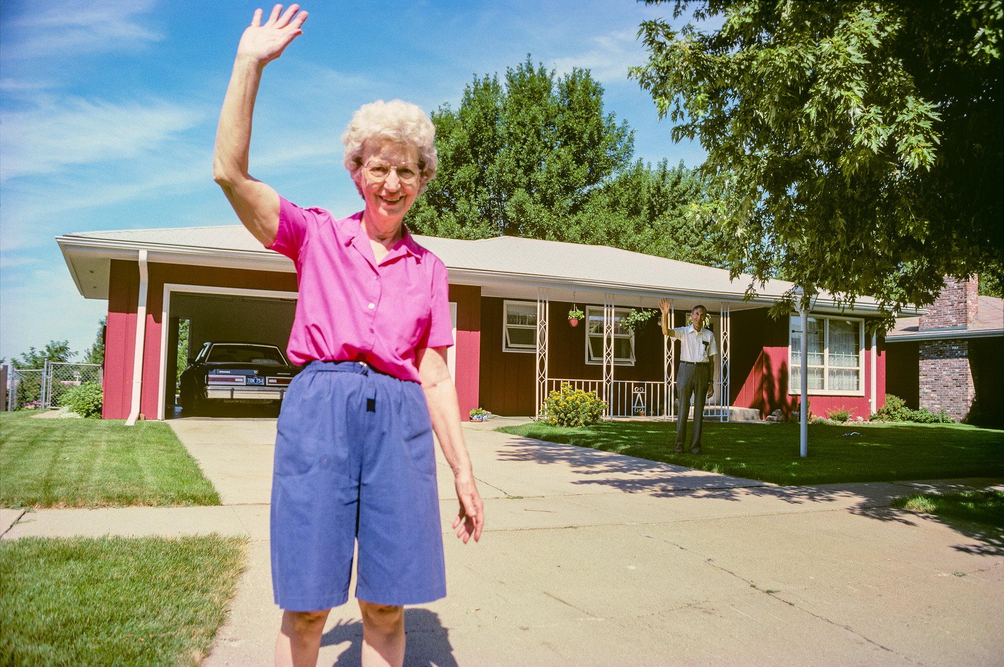
[[[659,4],[659,0],[647,0]],[[1002,275],[1000,0],[677,0],[631,75],[699,138],[734,274],[893,310]]]

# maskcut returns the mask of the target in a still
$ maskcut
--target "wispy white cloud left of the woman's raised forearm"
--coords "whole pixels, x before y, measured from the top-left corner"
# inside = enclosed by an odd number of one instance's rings
[[[0,182],[52,174],[73,164],[136,157],[204,115],[164,101],[113,104],[77,97],[39,98],[36,108],[0,112]]]

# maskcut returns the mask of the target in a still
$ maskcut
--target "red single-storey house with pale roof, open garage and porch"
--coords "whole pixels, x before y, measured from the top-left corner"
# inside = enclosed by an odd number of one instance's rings
[[[631,309],[657,308],[661,297],[673,300],[675,326],[699,303],[711,314],[722,354],[708,416],[761,418],[797,405],[799,319],[767,315],[790,283],[771,281],[746,300],[748,276],[732,281],[722,269],[615,248],[416,239],[449,269],[457,343],[449,361],[465,419],[478,406],[535,414],[562,381],[596,390],[610,416],[673,416],[679,343],[667,344],[658,318],[635,332],[621,324]],[[80,294],[108,301],[104,417],[126,417],[134,400],[147,418],[170,415],[183,319],[190,350],[207,340],[285,345],[297,297],[293,264],[239,226],[68,234],[57,243]],[[576,327],[567,321],[573,305],[585,314]],[[820,296],[809,318],[813,412],[866,416],[882,406],[885,341],[866,333],[877,318],[871,299],[841,313]]]

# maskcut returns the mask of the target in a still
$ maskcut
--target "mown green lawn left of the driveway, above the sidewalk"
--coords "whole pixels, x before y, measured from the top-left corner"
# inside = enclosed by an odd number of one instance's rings
[[[98,508],[219,505],[171,427],[111,419],[0,413],[0,506]]]

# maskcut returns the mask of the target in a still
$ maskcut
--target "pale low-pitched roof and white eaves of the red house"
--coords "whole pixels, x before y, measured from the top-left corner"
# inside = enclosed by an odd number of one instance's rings
[[[173,243],[175,239],[182,242]],[[518,237],[466,241],[416,235],[416,241],[443,260],[452,283],[519,292],[543,287],[553,290],[552,299],[570,298],[578,291],[583,293],[579,301],[587,300],[587,293],[612,293],[638,299],[638,305],[642,299],[651,305],[652,299],[666,296],[685,303],[724,301],[740,309],[769,306],[792,287],[786,281],[768,281],[747,301],[750,276],[730,280],[724,269],[617,248]],[[262,248],[240,226],[74,233],[56,237],[56,243],[77,290],[87,298],[107,298],[110,260],[135,261],[139,250],[148,252],[151,263],[295,272],[292,262]],[[814,310],[840,312],[825,293]],[[877,303],[862,297],[847,312],[875,313]]]

